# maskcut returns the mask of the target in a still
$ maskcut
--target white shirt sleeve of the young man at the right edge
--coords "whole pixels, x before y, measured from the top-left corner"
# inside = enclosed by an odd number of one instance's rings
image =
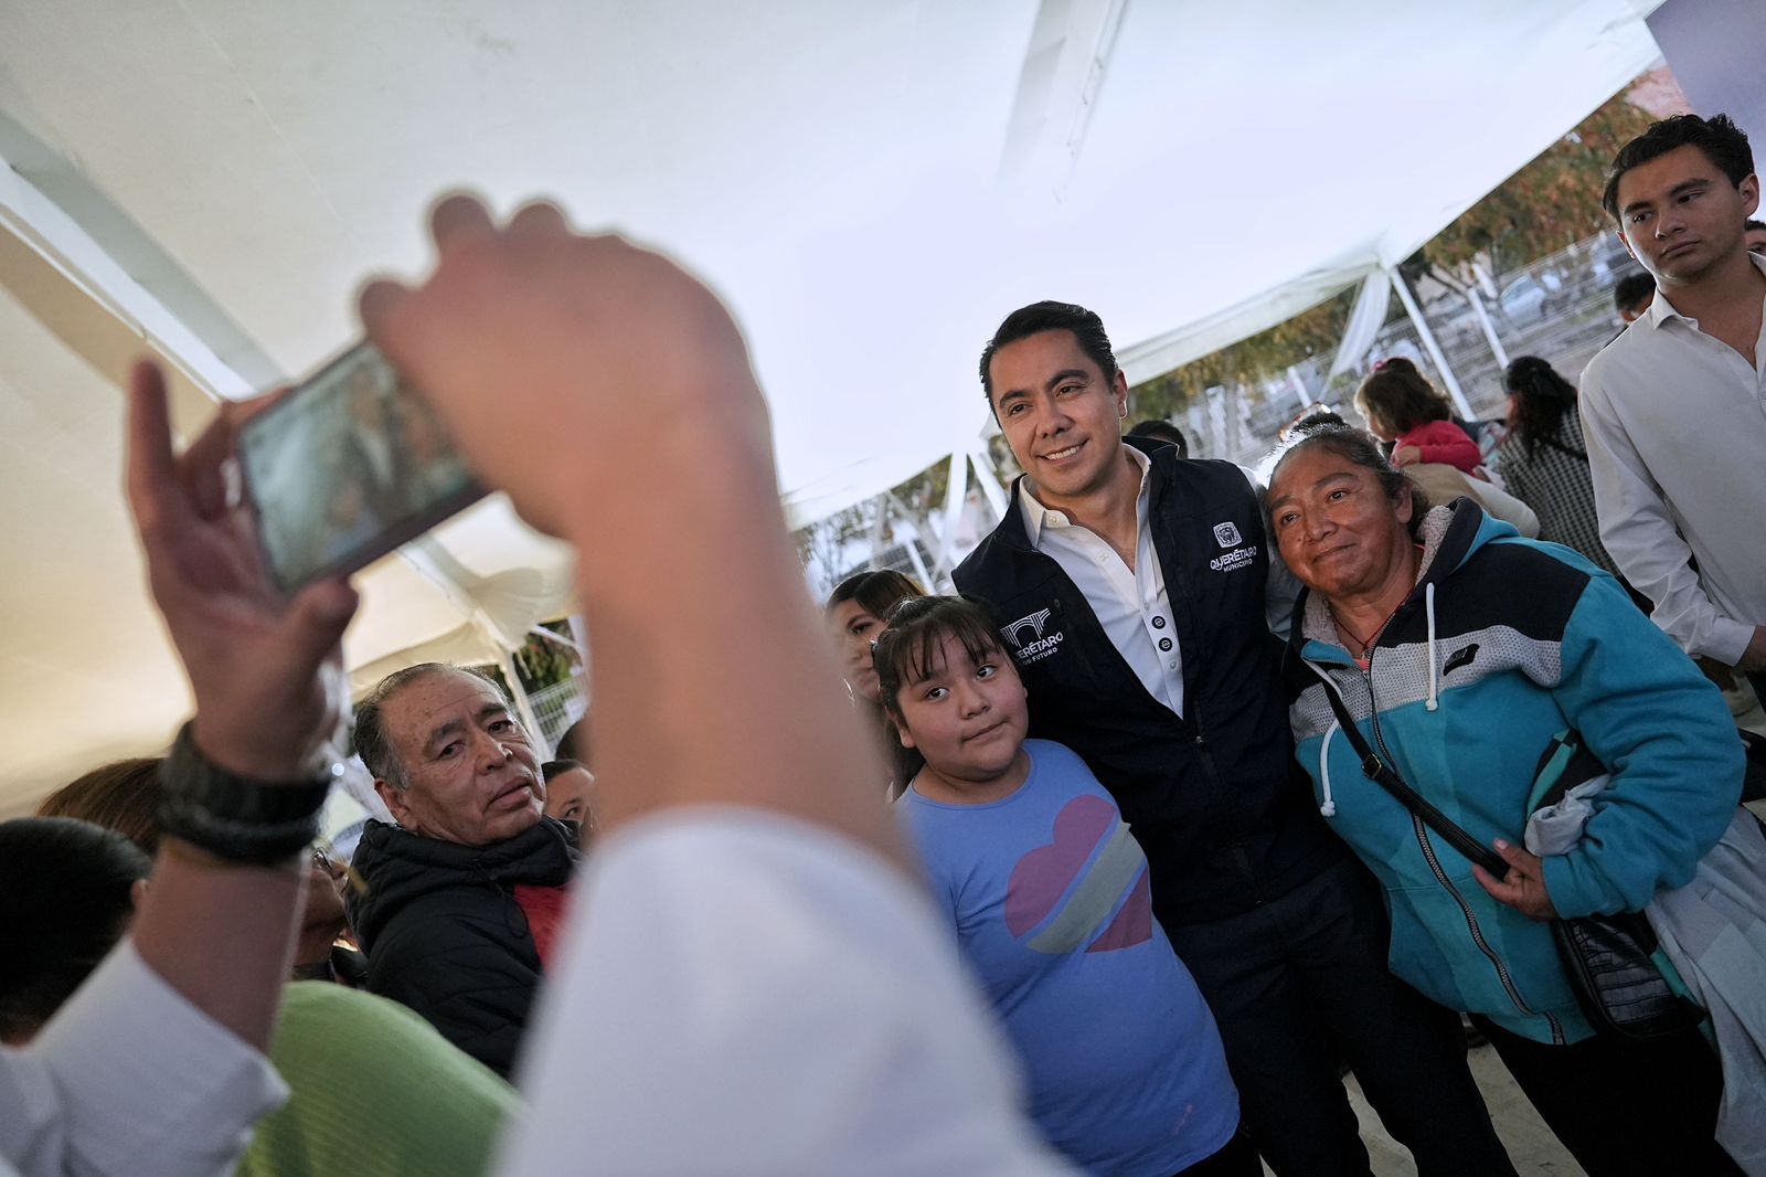
[[[1681,539],[1662,490],[1607,403],[1595,371],[1582,375],[1577,401],[1588,470],[1595,481],[1600,543],[1625,580],[1655,601],[1649,617],[1683,650],[1734,666],[1747,652],[1754,627],[1724,617],[1704,596],[1699,574],[1688,564],[1692,548]]]

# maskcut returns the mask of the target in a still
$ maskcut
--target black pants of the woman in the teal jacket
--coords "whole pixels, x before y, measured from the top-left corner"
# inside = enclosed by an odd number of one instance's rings
[[[1644,1041],[1596,1034],[1552,1046],[1489,1018],[1471,1020],[1588,1177],[1740,1177],[1713,1140],[1724,1076],[1697,1029]]]

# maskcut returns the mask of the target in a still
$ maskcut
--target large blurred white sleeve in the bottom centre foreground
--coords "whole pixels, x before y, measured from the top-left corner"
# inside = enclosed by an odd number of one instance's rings
[[[1070,1173],[931,898],[759,809],[597,847],[530,1029],[505,1177]]]

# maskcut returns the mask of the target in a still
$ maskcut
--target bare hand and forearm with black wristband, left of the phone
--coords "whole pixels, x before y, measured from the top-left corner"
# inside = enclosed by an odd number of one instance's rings
[[[228,490],[249,412],[224,406],[178,456],[164,378],[154,364],[136,366],[129,507],[154,603],[196,696],[196,749],[228,772],[295,783],[313,778],[348,707],[339,640],[355,594],[325,581],[283,601],[270,587],[249,511]],[[242,866],[168,838],[131,938],[171,988],[261,1050],[288,979],[306,877],[302,852]]]

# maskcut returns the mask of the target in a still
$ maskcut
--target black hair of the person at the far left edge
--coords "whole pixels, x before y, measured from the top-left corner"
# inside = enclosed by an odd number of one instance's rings
[[[0,1041],[21,1043],[117,947],[154,861],[72,818],[0,822]]]

